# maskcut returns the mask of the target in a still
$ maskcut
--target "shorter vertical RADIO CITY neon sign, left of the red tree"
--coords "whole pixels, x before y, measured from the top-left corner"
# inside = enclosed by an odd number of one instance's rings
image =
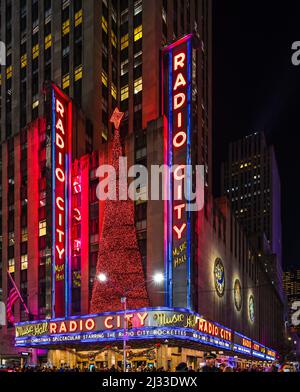
[[[72,102],[52,85],[52,317],[70,315]]]

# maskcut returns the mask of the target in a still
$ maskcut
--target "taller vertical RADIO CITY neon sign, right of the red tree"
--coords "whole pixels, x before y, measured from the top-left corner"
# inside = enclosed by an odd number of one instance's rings
[[[170,168],[165,203],[166,306],[191,308],[192,39],[187,35],[163,49],[162,96],[165,164]],[[171,168],[174,167],[171,172]]]

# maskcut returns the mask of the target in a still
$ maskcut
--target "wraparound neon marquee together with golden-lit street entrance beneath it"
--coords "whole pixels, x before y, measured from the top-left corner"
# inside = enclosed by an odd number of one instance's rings
[[[127,340],[128,361],[174,368],[184,360],[196,367],[208,351],[232,358],[274,361],[276,352],[187,309],[144,308],[17,323],[15,345],[44,348],[53,366],[98,362],[99,367],[122,362],[122,343]]]

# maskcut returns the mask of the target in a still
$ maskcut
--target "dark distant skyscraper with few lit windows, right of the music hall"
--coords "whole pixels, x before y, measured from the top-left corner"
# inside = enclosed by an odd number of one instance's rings
[[[266,269],[281,287],[281,186],[274,147],[267,144],[264,133],[256,132],[230,144],[221,182],[233,213],[258,252],[268,256]]]

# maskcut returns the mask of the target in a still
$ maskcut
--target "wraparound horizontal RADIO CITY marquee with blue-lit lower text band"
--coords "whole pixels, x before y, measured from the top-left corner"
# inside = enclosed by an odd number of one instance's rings
[[[178,344],[201,344],[245,356],[275,360],[276,352],[199,314],[179,308],[128,310],[126,319],[131,340],[172,339]],[[45,347],[60,344],[101,344],[123,339],[124,312],[17,323],[17,347]],[[199,348],[199,347],[198,347]]]

